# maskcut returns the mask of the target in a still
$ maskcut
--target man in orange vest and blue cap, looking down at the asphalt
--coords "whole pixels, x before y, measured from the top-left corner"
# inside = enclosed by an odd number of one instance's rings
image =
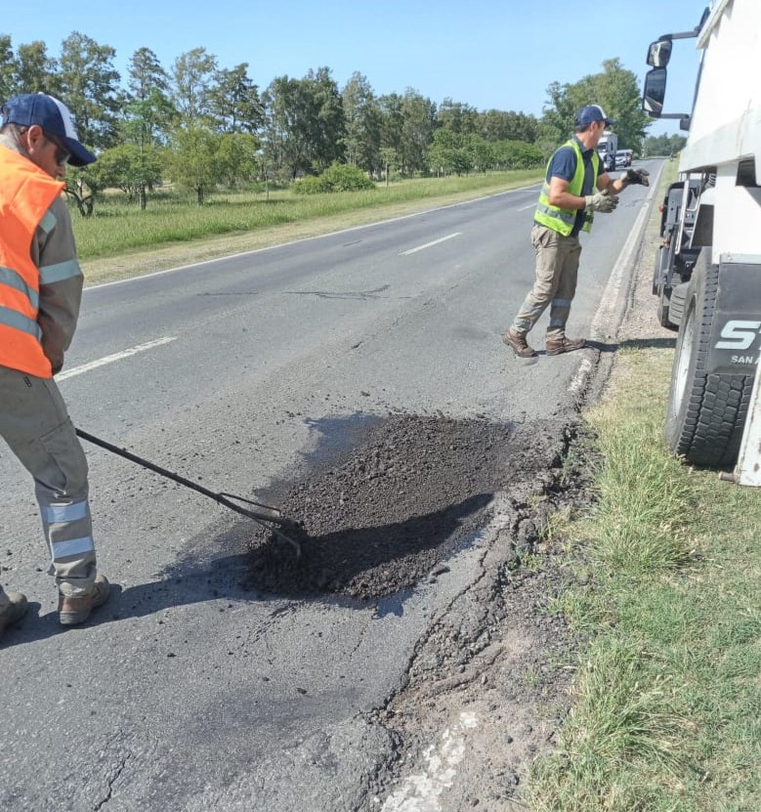
[[[83,283],[62,181],[67,163],[94,160],[58,99],[24,93],[2,106],[0,435],[34,477],[63,625],[83,623],[109,594],[92,545],[87,460],[53,379]],[[23,594],[0,586],[0,637],[26,609]]]

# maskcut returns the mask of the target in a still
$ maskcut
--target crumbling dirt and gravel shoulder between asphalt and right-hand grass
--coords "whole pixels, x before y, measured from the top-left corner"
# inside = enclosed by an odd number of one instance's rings
[[[654,207],[619,343],[673,343],[673,332],[656,320],[651,295],[658,229]],[[614,360],[608,376],[616,374]],[[550,611],[574,582],[559,529],[592,499],[594,451],[585,431],[578,416],[559,421],[552,432],[561,452],[537,451],[544,469],[506,491],[504,526],[484,553],[481,577],[433,624],[411,660],[405,688],[376,715],[398,741],[398,753],[371,783],[364,808],[525,808],[531,765],[553,749],[585,644],[561,613]],[[538,436],[535,443],[538,449]]]

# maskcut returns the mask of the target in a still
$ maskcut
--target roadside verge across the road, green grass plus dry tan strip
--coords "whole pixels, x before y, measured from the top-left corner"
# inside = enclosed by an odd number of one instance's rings
[[[112,199],[95,216],[72,213],[88,284],[267,248],[379,219],[400,217],[503,192],[540,180],[540,170],[462,178],[405,180],[368,192],[299,196],[272,192],[217,193],[199,207],[178,196],[150,201],[141,212]]]

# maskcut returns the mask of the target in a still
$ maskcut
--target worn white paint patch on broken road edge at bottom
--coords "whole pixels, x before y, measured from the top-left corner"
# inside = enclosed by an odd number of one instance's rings
[[[431,745],[423,754],[423,773],[408,775],[402,786],[386,798],[380,812],[439,812],[441,796],[451,788],[457,767],[465,758],[465,732],[478,726],[474,713],[462,711],[453,728],[441,734],[441,745]]]

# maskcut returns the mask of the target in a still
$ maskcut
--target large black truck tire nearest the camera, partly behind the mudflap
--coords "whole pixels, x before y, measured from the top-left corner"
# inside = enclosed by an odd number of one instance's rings
[[[752,375],[706,371],[719,266],[701,253],[686,288],[666,415],[666,442],[688,462],[727,468],[737,461],[750,404]]]

